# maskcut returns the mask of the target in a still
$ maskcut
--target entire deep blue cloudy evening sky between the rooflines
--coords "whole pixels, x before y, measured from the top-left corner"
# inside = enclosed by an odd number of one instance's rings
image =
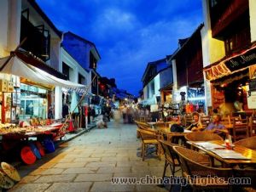
[[[135,95],[148,62],[163,59],[202,23],[201,0],[37,0],[61,31],[95,42],[98,72]]]

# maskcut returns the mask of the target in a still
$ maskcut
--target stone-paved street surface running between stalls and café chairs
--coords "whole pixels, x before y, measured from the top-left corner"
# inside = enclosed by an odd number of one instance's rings
[[[136,129],[109,122],[108,129],[95,128],[61,144],[36,164],[20,167],[23,178],[10,191],[168,191],[156,185],[110,183],[113,177],[162,175],[164,158],[151,155],[142,161]]]

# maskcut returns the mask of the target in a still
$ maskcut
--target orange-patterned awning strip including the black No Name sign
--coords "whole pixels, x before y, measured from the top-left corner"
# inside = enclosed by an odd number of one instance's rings
[[[256,44],[228,59],[220,60],[204,68],[207,80],[214,81],[223,76],[229,76],[238,71],[244,71],[250,65],[256,64]]]

